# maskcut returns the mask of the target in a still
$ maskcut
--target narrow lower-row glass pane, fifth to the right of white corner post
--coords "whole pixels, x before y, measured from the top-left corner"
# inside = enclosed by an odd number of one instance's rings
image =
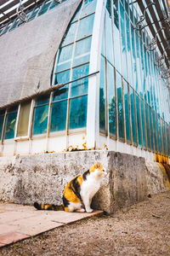
[[[131,119],[132,119],[132,131],[133,131],[133,145],[137,145],[137,137],[136,137],[136,113],[134,108],[134,94],[133,88],[130,89],[130,108],[131,108]]]

